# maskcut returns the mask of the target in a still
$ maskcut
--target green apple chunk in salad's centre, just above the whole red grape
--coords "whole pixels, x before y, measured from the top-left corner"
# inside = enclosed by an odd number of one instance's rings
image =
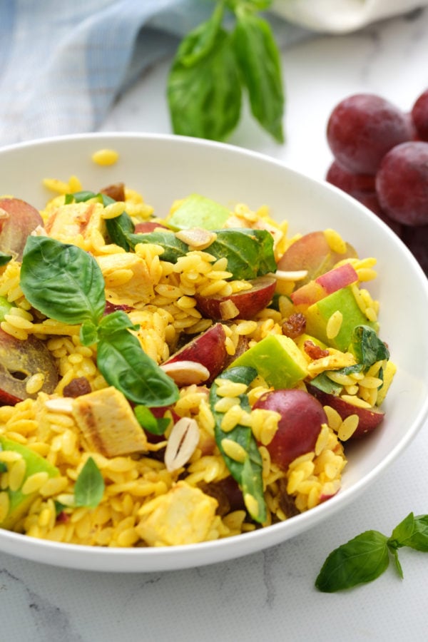
[[[283,335],[268,335],[230,364],[235,366],[255,368],[275,389],[295,387],[307,377],[305,357],[295,342]]]

